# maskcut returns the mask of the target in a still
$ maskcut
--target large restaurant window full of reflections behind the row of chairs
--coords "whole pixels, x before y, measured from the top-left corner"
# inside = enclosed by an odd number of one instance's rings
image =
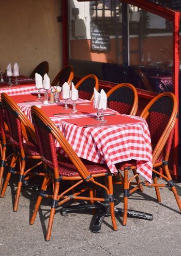
[[[78,76],[94,73],[99,79],[129,82],[148,91],[172,91],[169,20],[119,0],[70,0],[69,28],[69,63]],[[150,86],[145,86],[143,75]],[[166,85],[155,85],[164,76],[169,78]]]

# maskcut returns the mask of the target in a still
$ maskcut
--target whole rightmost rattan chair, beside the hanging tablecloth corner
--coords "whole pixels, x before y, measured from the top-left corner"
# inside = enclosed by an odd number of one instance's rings
[[[176,202],[181,211],[181,202],[168,168],[168,160],[174,132],[173,130],[177,118],[177,101],[174,94],[170,92],[159,94],[147,104],[140,116],[145,118],[148,123],[150,138],[152,141],[153,184],[150,186],[155,187],[157,200],[159,202],[161,201],[159,187],[170,188],[174,193]],[[119,170],[119,177],[121,180],[118,184],[124,184],[123,224],[126,225],[129,195],[143,185],[149,187],[149,184],[145,181],[140,183],[139,186],[130,189],[130,185],[133,185],[132,179],[139,175],[135,174],[133,177],[128,179],[129,170],[136,169],[135,162],[118,164],[117,168]],[[164,169],[164,175],[159,172],[160,168]],[[124,170],[124,177],[122,176],[121,170]],[[162,176],[167,180],[167,184],[158,184],[157,176]]]

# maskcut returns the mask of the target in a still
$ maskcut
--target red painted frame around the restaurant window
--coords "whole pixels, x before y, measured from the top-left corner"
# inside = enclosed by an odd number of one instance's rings
[[[83,0],[78,0],[79,2],[86,2]],[[88,1],[88,0],[87,0]],[[168,8],[164,8],[152,2],[145,0],[123,0],[124,2],[138,6],[146,11],[152,12],[158,16],[168,19],[173,22],[173,88],[174,94],[179,102],[179,92],[178,92],[178,78],[179,78],[179,19],[180,12],[174,11]],[[67,65],[68,61],[68,1],[62,0],[62,10],[63,10],[63,64]],[[173,139],[173,168],[171,170],[172,175],[178,175],[178,121],[175,125],[175,133]]]

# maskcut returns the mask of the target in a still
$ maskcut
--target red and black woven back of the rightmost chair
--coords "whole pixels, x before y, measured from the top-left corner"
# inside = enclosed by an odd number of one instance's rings
[[[165,92],[152,99],[142,111],[152,142],[153,163],[170,150],[173,129],[177,118],[177,100],[174,94]],[[168,146],[169,143],[169,146]],[[161,158],[160,158],[161,159]]]

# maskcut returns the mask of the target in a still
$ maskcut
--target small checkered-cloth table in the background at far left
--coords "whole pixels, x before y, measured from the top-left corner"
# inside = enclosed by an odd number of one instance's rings
[[[0,83],[0,96],[2,93],[7,93],[9,96],[13,95],[24,95],[30,93],[36,93],[37,89],[35,87],[35,82],[31,78],[27,78],[24,76],[18,77],[19,85],[13,84],[15,82],[12,79],[12,85],[8,85],[8,82]]]

